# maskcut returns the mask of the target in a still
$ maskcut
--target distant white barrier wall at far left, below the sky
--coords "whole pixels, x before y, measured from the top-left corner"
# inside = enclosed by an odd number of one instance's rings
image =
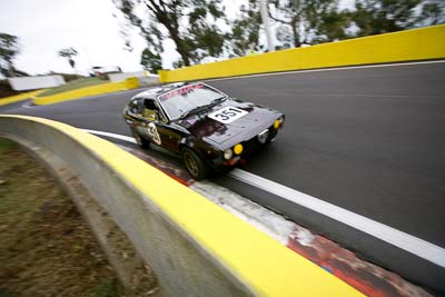
[[[16,91],[37,90],[65,85],[62,76],[18,77],[8,78],[9,85]]]

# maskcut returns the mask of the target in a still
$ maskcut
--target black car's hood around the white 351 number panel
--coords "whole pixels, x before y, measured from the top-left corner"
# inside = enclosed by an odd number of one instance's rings
[[[239,108],[248,113],[229,123],[224,123],[208,117],[226,107]],[[218,145],[221,149],[226,149],[255,137],[270,127],[281,115],[281,112],[267,107],[227,99],[204,112],[191,115],[187,119],[181,120],[180,126],[188,129],[196,137]]]

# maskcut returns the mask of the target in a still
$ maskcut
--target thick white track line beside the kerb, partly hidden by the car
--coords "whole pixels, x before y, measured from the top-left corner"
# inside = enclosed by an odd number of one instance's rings
[[[82,130],[93,135],[106,136],[136,143],[136,140],[132,137],[97,130]],[[375,238],[445,268],[445,249],[439,246],[245,170],[236,168],[229,172],[229,176],[335,219],[357,230],[364,231]]]

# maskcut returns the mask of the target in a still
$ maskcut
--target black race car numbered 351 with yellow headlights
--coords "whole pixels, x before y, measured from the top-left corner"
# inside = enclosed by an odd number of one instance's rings
[[[229,98],[202,82],[170,83],[136,95],[123,117],[142,148],[156,143],[180,155],[197,180],[274,141],[285,120],[277,110]]]

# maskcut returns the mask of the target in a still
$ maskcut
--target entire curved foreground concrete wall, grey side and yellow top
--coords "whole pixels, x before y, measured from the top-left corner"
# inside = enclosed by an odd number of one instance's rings
[[[166,296],[362,296],[106,140],[24,116],[0,116],[0,135],[65,160],[154,268]]]

